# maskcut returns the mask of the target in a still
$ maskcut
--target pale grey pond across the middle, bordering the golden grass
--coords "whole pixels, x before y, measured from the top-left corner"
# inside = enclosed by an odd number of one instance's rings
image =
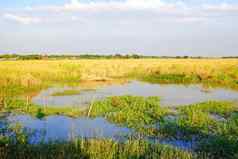
[[[79,94],[53,96],[52,94],[67,89],[80,90],[81,88],[49,88],[33,97],[35,104],[46,106],[88,106],[92,101],[108,96],[159,96],[161,104],[165,106],[178,106],[198,103],[208,100],[238,100],[238,91],[223,88],[205,89],[201,85],[151,84],[132,81],[126,84],[102,86],[95,90],[81,90]]]

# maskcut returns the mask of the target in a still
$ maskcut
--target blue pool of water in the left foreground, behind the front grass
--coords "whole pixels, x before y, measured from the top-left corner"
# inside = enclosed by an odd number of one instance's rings
[[[133,132],[129,128],[119,127],[103,118],[70,118],[66,116],[48,116],[44,119],[29,115],[9,115],[6,122],[11,126],[21,125],[24,129],[33,131],[31,141],[66,141],[75,138],[110,138],[122,140]]]

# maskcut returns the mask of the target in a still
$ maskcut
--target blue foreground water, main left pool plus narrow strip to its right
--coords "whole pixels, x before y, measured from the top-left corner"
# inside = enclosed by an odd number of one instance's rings
[[[77,138],[112,139],[123,142],[130,137],[137,138],[133,129],[120,127],[109,123],[104,118],[71,118],[66,116],[48,116],[43,119],[29,115],[8,114],[0,120],[0,126],[8,124],[11,127],[21,126],[25,134],[30,134],[29,141],[32,144],[50,141],[70,141]],[[161,143],[175,146],[185,150],[192,150],[195,142],[178,139],[160,139],[144,136],[150,143]]]

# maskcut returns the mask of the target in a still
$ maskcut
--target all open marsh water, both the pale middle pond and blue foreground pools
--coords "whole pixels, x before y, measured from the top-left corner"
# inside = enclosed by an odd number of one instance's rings
[[[54,93],[64,90],[79,90],[78,94],[53,96]],[[52,87],[41,91],[32,98],[32,102],[41,106],[67,107],[75,106],[87,108],[95,100],[109,96],[159,96],[163,106],[179,106],[198,103],[208,100],[238,100],[238,91],[224,88],[204,88],[202,85],[176,85],[151,84],[132,81],[125,84],[112,84],[85,89],[79,87]],[[33,130],[35,133],[32,142],[70,140],[82,138],[110,138],[121,141],[135,133],[134,130],[120,127],[108,122],[104,118],[71,118],[54,115],[37,119],[30,115],[9,114],[4,117],[10,125],[20,124],[23,128]],[[1,124],[0,124],[1,125]],[[43,135],[42,135],[43,134]],[[179,140],[153,140],[180,148],[191,148],[191,142]]]

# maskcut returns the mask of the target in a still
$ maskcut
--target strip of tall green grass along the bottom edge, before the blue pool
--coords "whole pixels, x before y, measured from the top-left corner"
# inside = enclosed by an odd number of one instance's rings
[[[117,143],[111,140],[76,140],[30,145],[8,143],[0,147],[1,159],[192,159],[186,152],[144,141]]]

